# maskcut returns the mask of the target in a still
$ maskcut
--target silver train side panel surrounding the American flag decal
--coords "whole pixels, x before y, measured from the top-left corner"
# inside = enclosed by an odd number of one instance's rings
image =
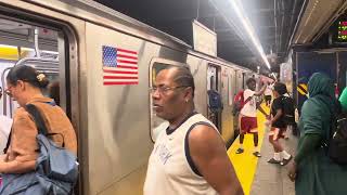
[[[86,40],[89,185],[91,194],[103,194],[127,174],[143,169],[147,161],[153,147],[149,121],[149,65],[160,48],[90,23],[86,25]],[[139,84],[103,84],[103,46],[138,52]],[[137,178],[143,180],[142,174]],[[129,192],[137,186],[132,183]]]

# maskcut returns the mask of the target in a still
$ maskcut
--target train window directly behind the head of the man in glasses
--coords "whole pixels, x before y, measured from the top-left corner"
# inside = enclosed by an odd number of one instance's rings
[[[156,76],[158,73],[165,68],[168,68],[170,66],[182,66],[184,64],[163,60],[163,58],[154,58],[151,63],[151,69],[150,69],[150,87],[152,87],[153,82],[155,81]],[[167,126],[168,121],[163,120],[162,118],[157,117],[153,109],[153,102],[152,96],[150,93],[150,115],[151,115],[151,139],[153,142],[155,142],[157,135],[159,134],[160,130],[163,130],[163,126]]]

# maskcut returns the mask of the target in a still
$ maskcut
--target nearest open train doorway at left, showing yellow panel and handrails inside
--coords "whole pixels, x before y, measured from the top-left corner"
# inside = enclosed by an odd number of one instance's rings
[[[20,21],[18,18],[2,15],[1,13],[0,86],[2,90],[5,91],[7,89],[8,83],[5,78],[12,67],[23,65],[31,66],[49,79],[51,83],[50,89],[54,91],[53,94],[49,89],[42,89],[43,95],[54,99],[66,112],[67,116],[72,118],[70,93],[68,92],[70,89],[68,84],[70,72],[67,68],[69,61],[65,58],[65,55],[68,54],[69,46],[66,44],[66,40],[68,40],[66,31],[52,27],[53,25],[46,26],[31,21]],[[76,96],[78,95],[76,94]],[[17,102],[13,101],[13,99],[7,94],[3,94],[0,103],[0,117],[12,122],[15,109],[18,107]],[[76,123],[77,122],[73,121],[75,128]],[[1,128],[1,130],[3,130],[3,128]],[[10,128],[0,132],[5,138],[0,140],[1,151],[3,150],[3,143],[7,143],[9,132]],[[78,194],[78,192],[76,193]]]

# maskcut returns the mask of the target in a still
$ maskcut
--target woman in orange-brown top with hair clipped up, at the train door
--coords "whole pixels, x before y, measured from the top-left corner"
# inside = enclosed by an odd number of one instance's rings
[[[43,74],[29,66],[13,67],[7,76],[7,93],[17,101],[20,108],[14,114],[5,158],[0,160],[0,173],[26,173],[35,169],[38,157],[38,130],[33,117],[24,108],[34,104],[41,113],[48,131],[64,136],[65,148],[77,154],[77,141],[74,128],[64,110],[54,101],[42,95],[41,89],[49,83]],[[51,139],[62,146],[61,135]]]

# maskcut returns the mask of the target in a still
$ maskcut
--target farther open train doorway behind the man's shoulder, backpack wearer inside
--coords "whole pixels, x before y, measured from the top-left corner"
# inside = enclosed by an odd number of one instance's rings
[[[207,67],[207,93],[210,94],[209,92],[217,92],[221,95],[220,67],[211,64]],[[221,110],[213,110],[209,104],[210,103],[208,103],[207,117],[221,131]]]

